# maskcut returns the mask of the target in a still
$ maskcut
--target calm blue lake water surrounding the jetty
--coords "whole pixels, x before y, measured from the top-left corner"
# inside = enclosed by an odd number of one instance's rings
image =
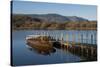
[[[45,32],[45,33],[44,33]],[[68,51],[56,49],[55,52],[49,55],[43,55],[30,49],[27,46],[25,38],[27,35],[50,35],[54,38],[59,38],[63,34],[64,41],[73,41],[73,35],[75,36],[75,42],[90,43],[96,44],[96,31],[14,31],[12,33],[12,61],[13,65],[37,65],[37,64],[54,64],[54,63],[67,63],[67,62],[76,62],[81,61],[83,58],[73,55]],[[91,39],[92,35],[92,39]],[[67,38],[68,37],[68,38]]]

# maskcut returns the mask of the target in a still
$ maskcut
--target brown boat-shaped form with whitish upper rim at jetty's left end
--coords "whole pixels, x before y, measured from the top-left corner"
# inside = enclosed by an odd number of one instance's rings
[[[48,53],[53,50],[51,39],[45,35],[28,35],[26,37],[27,45],[42,53]]]

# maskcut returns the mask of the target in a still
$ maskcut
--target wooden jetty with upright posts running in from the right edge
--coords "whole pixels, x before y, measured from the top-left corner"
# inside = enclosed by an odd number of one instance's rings
[[[94,43],[94,36],[91,35],[91,38],[88,38],[88,34],[86,34],[86,39],[90,39],[91,43],[88,42],[88,40],[85,41],[84,43],[84,34],[80,34],[79,38],[81,39],[80,42],[76,42],[75,38],[76,36],[74,33],[72,34],[72,39],[73,41],[68,41],[69,36],[66,35],[66,41],[64,41],[63,37],[64,35],[61,34],[61,37],[57,36],[52,36],[49,33],[43,33],[43,35],[29,35],[26,37],[26,40],[30,38],[36,38],[39,36],[44,36],[44,37],[50,37],[50,40],[48,41],[50,44],[52,43],[53,45],[56,44],[56,46],[61,47],[61,49],[65,49],[66,51],[71,52],[72,54],[75,54],[77,56],[80,56],[82,58],[86,58],[86,61],[96,61],[97,60],[97,44]],[[60,44],[60,45],[58,45]],[[31,45],[32,46],[32,45]],[[51,49],[51,47],[50,47]]]

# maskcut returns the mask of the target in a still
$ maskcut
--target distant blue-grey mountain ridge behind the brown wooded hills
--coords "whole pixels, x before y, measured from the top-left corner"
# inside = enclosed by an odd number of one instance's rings
[[[27,16],[31,19],[37,18],[42,20],[43,22],[88,22],[88,19],[77,17],[77,16],[63,16],[60,14],[13,14],[14,16]]]

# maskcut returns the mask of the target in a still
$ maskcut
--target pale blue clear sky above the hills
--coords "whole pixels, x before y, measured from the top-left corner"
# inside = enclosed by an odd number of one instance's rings
[[[58,4],[45,2],[13,1],[13,14],[60,14],[63,16],[78,16],[88,20],[97,20],[97,6]]]

